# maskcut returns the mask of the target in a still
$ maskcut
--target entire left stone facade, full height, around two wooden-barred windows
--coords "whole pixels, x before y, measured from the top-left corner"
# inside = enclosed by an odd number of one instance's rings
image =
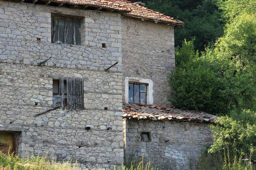
[[[81,46],[51,42],[52,13],[84,17]],[[21,156],[50,149],[58,161],[121,164],[121,65],[120,14],[0,0],[0,131],[19,134]],[[55,76],[83,78],[85,109],[33,117],[53,108]]]

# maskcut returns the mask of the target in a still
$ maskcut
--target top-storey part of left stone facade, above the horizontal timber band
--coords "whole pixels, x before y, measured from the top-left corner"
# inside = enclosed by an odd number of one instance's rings
[[[0,62],[104,70],[119,61],[120,14],[0,1]],[[51,15],[81,16],[82,46],[51,43]],[[40,39],[40,41],[39,41]],[[106,48],[102,48],[102,43]]]

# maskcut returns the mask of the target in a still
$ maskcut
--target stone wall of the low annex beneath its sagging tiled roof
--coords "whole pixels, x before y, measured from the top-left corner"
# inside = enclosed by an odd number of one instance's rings
[[[144,154],[145,161],[163,169],[190,170],[190,161],[198,160],[212,141],[211,129],[204,123],[126,119],[123,126],[126,161]],[[141,132],[150,132],[151,140],[142,141]]]

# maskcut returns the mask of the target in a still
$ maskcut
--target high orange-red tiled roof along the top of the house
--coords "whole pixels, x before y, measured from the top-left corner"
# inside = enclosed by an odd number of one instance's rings
[[[52,0],[51,2],[102,7],[106,9],[124,11],[126,16],[150,19],[153,21],[166,22],[180,26],[184,24],[184,22],[174,20],[174,18],[170,16],[163,15],[159,12],[144,7],[143,5],[135,4],[126,0]]]

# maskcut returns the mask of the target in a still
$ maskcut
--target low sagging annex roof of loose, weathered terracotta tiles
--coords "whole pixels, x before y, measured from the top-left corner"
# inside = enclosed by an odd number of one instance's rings
[[[195,121],[212,123],[217,120],[216,115],[190,110],[181,110],[163,105],[127,104],[123,103],[123,118],[145,119],[153,121]]]

